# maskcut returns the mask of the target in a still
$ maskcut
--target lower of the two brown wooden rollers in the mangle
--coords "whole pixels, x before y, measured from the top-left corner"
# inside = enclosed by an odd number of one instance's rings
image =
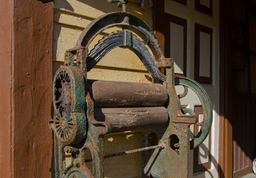
[[[94,117],[97,121],[109,123],[112,132],[164,126],[168,122],[164,107],[95,108]]]

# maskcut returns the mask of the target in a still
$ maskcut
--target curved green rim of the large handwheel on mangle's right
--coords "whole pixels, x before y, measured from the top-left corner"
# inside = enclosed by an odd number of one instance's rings
[[[188,79],[186,77],[177,77],[175,78],[175,85],[183,85],[187,88],[191,88],[191,90],[193,90],[194,93],[197,94],[203,106],[203,122],[197,122],[197,125],[201,126],[200,132],[197,133],[197,136],[195,136],[194,139],[192,139],[190,142],[190,148],[194,149],[206,139],[211,130],[211,101],[208,94],[206,93],[206,90],[199,83],[195,82],[192,79]],[[194,112],[191,112],[190,110],[183,110],[183,112],[194,115]]]

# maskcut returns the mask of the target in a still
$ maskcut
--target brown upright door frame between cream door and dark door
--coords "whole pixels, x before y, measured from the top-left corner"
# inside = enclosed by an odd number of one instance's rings
[[[231,19],[232,0],[220,1],[220,178],[233,176]]]

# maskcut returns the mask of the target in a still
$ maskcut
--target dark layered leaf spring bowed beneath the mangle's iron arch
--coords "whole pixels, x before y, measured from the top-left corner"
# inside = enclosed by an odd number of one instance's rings
[[[108,52],[116,47],[127,47],[136,53],[155,82],[165,80],[165,75],[160,73],[157,65],[154,64],[151,53],[149,53],[145,44],[129,30],[117,31],[99,40],[99,43],[94,46],[88,55],[87,70],[90,71]]]

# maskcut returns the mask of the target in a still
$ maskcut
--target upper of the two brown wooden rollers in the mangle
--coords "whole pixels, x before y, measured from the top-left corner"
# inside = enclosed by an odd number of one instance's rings
[[[165,86],[133,82],[89,81],[96,107],[163,106]]]

